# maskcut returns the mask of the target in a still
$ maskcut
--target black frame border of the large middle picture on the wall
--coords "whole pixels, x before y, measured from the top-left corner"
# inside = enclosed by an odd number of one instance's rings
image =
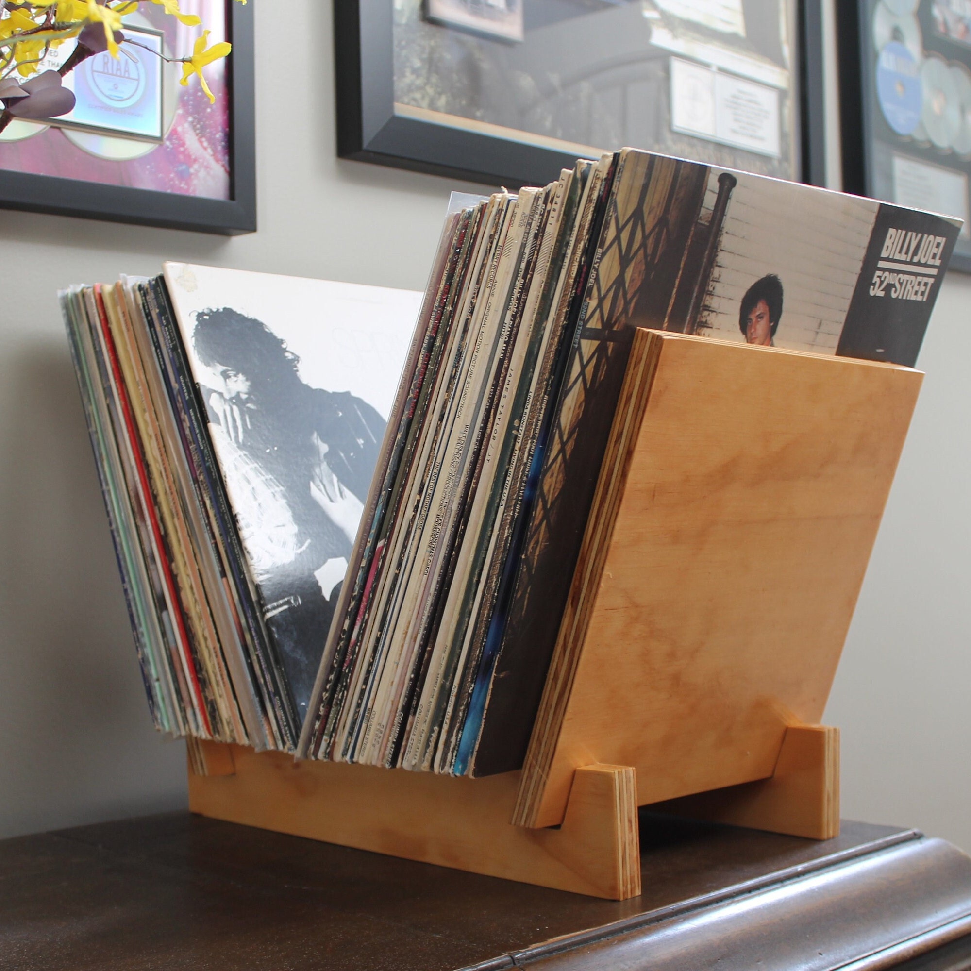
[[[800,181],[825,184],[822,11],[799,0]],[[341,158],[488,185],[546,184],[576,155],[394,112],[389,0],[334,3],[337,153]],[[651,146],[638,146],[650,149]]]

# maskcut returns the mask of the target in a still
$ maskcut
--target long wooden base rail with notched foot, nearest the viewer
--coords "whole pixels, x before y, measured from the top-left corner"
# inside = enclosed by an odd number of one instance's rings
[[[578,769],[562,826],[525,829],[509,821],[519,772],[452,779],[212,742],[190,748],[189,808],[202,816],[612,900],[641,892],[629,767]]]

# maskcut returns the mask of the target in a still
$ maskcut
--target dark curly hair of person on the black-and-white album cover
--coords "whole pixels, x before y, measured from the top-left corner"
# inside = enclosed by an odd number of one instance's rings
[[[230,367],[257,384],[275,384],[297,377],[300,358],[287,351],[285,342],[262,320],[231,307],[199,311],[192,343],[207,367]]]

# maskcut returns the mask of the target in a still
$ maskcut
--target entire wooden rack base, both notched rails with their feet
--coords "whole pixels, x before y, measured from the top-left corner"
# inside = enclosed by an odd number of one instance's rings
[[[611,900],[641,892],[628,766],[577,769],[562,825],[527,829],[510,821],[519,772],[453,779],[214,742],[188,748],[189,808],[202,816]],[[654,808],[825,839],[838,832],[838,776],[836,730],[793,727],[772,779]]]

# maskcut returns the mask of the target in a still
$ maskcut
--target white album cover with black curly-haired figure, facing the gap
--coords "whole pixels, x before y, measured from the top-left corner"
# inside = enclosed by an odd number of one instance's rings
[[[165,281],[302,716],[421,294],[184,263]]]

